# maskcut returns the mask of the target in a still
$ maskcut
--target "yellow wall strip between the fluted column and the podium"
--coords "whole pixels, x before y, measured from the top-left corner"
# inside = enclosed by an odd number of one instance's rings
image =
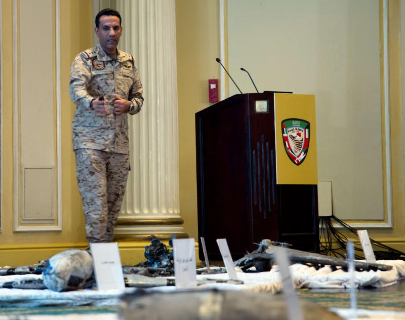
[[[197,239],[195,112],[210,105],[208,79],[219,79],[219,1],[176,0],[176,36],[180,215],[184,231]]]

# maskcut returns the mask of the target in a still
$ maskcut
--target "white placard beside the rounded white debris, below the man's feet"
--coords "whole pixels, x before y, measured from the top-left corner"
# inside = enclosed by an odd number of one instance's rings
[[[97,288],[100,291],[124,291],[125,282],[118,244],[90,244]]]

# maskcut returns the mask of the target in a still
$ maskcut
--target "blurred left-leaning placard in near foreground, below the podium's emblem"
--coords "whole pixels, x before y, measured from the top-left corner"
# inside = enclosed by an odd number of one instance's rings
[[[300,300],[295,292],[293,278],[290,273],[290,259],[282,248],[273,247],[275,250],[275,262],[280,272],[282,282],[282,296],[287,306],[289,320],[304,320],[302,316]]]

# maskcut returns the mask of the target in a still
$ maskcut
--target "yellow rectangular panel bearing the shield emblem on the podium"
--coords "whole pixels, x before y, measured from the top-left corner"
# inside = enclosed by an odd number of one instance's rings
[[[274,94],[277,184],[317,184],[315,96]]]

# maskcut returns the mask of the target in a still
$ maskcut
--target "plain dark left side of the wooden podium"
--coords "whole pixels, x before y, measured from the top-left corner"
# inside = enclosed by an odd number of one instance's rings
[[[210,260],[221,259],[217,238],[227,239],[234,259],[253,246],[247,106],[238,95],[196,113],[198,238]]]

